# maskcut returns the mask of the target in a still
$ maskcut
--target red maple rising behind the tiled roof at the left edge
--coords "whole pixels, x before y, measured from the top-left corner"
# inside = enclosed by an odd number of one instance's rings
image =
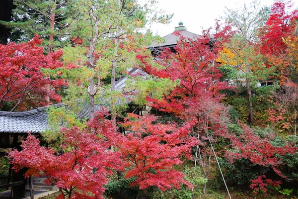
[[[0,107],[2,110],[29,110],[32,107],[60,102],[57,89],[64,80],[44,78],[46,70],[65,68],[60,61],[62,51],[43,54],[42,39],[35,36],[28,43],[0,45]],[[44,72],[43,72],[44,71]],[[49,74],[49,73],[48,73]],[[57,76],[57,77],[56,77]],[[45,86],[49,85],[49,90]],[[45,100],[48,96],[51,101]]]

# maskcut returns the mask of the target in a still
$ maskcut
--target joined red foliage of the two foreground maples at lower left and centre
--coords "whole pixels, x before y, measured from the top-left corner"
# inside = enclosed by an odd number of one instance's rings
[[[113,121],[105,119],[107,114],[108,110],[95,113],[94,119],[87,122],[89,128],[83,131],[77,127],[61,129],[63,153],[60,154],[39,146],[39,140],[29,134],[22,141],[20,152],[13,150],[9,153],[14,169],[29,168],[27,177],[45,174],[48,183],[53,183],[72,198],[92,198],[88,193],[101,198],[105,190],[103,186],[108,182],[107,174],[111,174],[111,169],[119,168],[125,172],[126,178],[136,177],[131,186],[140,189],[157,186],[165,190],[180,188],[181,184],[192,187],[173,167],[191,158],[191,146],[196,142],[188,138],[188,133],[193,123],[182,127],[152,124],[156,120],[154,116],[139,118],[130,115],[134,119],[127,118],[123,125],[132,132],[122,136],[114,133]],[[119,151],[108,150],[112,145]]]

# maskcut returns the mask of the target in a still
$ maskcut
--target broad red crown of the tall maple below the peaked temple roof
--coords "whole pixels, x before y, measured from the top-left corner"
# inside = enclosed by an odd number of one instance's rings
[[[228,88],[226,82],[219,81],[222,74],[218,70],[220,64],[216,59],[222,44],[230,38],[232,32],[229,26],[219,31],[219,25],[215,34],[210,31],[205,31],[203,36],[195,40],[185,38],[176,31],[180,40],[174,47],[175,52],[164,49],[158,58],[157,63],[163,69],[152,68],[147,64],[146,56],[137,57],[143,64],[141,67],[149,74],[169,78],[173,82],[179,81],[178,87],[170,95],[161,100],[148,99],[156,108],[183,116],[189,106],[210,98],[219,99],[219,91]]]

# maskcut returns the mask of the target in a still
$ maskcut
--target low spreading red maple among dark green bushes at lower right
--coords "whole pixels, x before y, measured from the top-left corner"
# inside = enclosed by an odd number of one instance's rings
[[[232,146],[232,149],[225,153],[225,159],[229,164],[241,165],[241,168],[244,169],[242,172],[246,172],[243,178],[250,178],[252,189],[260,186],[266,192],[268,183],[274,186],[281,184],[281,181],[274,182],[270,179],[272,173],[279,176],[280,179],[289,180],[287,177],[289,173],[284,168],[284,156],[291,156],[297,152],[295,143],[285,140],[274,141],[275,136],[270,131],[257,131],[246,125],[241,125],[241,127],[241,131],[234,131],[225,136],[231,140]],[[277,142],[282,144],[276,144]],[[243,164],[238,164],[239,162]],[[249,175],[247,175],[247,169],[250,169]],[[240,172],[237,171],[237,173]],[[234,178],[238,176],[241,175],[236,174]],[[265,180],[263,180],[264,178]],[[240,180],[243,181],[244,179]]]

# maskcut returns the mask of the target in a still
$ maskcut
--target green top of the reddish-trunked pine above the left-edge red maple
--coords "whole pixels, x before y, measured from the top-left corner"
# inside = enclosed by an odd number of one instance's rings
[[[53,51],[69,41],[69,24],[66,19],[75,17],[72,0],[13,0],[10,22],[0,21],[12,28],[10,41],[22,42],[35,34],[43,39],[46,51]]]

